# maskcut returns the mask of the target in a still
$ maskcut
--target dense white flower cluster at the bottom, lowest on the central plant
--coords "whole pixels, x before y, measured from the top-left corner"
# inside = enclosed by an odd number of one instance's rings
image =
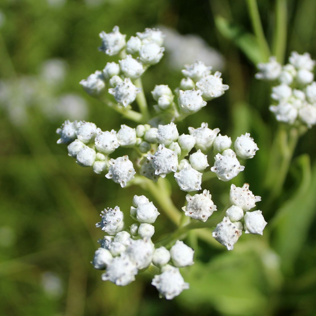
[[[152,224],[160,213],[144,195],[135,195],[132,204],[131,217],[138,223],[132,224],[129,231],[123,230],[124,215],[118,206],[102,211],[102,220],[96,223],[96,227],[107,235],[99,240],[100,248],[95,251],[91,263],[95,269],[105,270],[101,276],[103,281],[120,286],[134,281],[139,270],[152,266],[161,272],[154,276],[152,285],[161,296],[167,300],[173,299],[189,288],[179,268],[194,263],[194,251],[179,240],[170,250],[163,246],[155,248],[151,241],[155,233]]]

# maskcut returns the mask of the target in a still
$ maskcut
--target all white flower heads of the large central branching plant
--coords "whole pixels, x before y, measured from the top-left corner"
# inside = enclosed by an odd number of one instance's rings
[[[96,71],[80,83],[89,94],[141,124],[121,125],[118,131],[102,131],[94,123],[67,120],[57,129],[60,136],[57,143],[68,144],[68,154],[79,165],[92,167],[97,174],[105,173],[107,179],[122,188],[136,179],[138,184],[149,180],[155,183],[173,173],[179,189],[190,192],[182,208],[185,216],[206,222],[217,208],[208,190],[196,193],[202,190],[203,177],[210,178],[214,174],[222,181],[233,179],[245,168],[239,159],[253,158],[257,144],[245,133],[237,137],[233,145],[230,137],[219,134],[219,128],[210,129],[207,123],[189,127],[187,134],[180,135],[175,122],[199,111],[207,101],[228,89],[222,83],[221,73],[212,74],[211,67],[202,61],[185,65],[182,70],[185,77],[174,92],[167,85],[154,87],[151,94],[156,102],[153,106],[156,115],[150,118],[140,77],[162,58],[164,36],[158,29],[147,28],[127,42],[125,37],[117,26],[111,33],[100,33],[100,51],[110,56],[119,55],[120,59],[118,63],[107,63],[102,71]],[[135,100],[140,112],[132,110]],[[131,158],[132,161],[127,155],[117,157],[118,147],[134,150],[137,158]],[[214,162],[208,158],[211,149],[216,154]],[[207,172],[209,162],[213,166]],[[158,186],[154,188],[158,190]],[[170,199],[163,196],[165,192],[161,194],[161,199]],[[229,198],[231,206],[223,210],[225,216],[217,224],[213,237],[232,250],[242,230],[246,234],[262,234],[266,222],[261,211],[250,211],[261,198],[252,194],[248,184],[243,187],[232,184]],[[164,211],[167,213],[168,207]],[[133,198],[130,216],[135,223],[129,228],[125,227],[124,213],[119,206],[102,211],[96,227],[106,236],[99,240],[100,248],[92,261],[94,268],[105,270],[102,280],[127,285],[135,280],[137,273],[149,270],[155,274],[152,284],[167,299],[188,289],[179,268],[193,264],[194,251],[178,238],[171,242],[162,240],[157,245],[152,242],[154,223],[159,215],[153,202],[143,195]],[[189,225],[186,227],[190,229]]]

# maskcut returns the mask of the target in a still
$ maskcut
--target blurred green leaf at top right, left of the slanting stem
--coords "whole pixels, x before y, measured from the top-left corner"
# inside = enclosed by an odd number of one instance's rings
[[[263,57],[258,41],[253,34],[246,32],[241,26],[235,25],[219,15],[215,17],[215,25],[222,36],[232,40],[254,65],[262,61]]]

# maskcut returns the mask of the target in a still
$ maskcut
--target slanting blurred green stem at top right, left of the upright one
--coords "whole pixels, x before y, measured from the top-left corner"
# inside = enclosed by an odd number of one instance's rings
[[[248,12],[252,23],[253,31],[257,37],[258,44],[262,52],[262,61],[268,61],[270,56],[269,45],[265,39],[263,27],[260,20],[258,5],[256,0],[247,0]]]

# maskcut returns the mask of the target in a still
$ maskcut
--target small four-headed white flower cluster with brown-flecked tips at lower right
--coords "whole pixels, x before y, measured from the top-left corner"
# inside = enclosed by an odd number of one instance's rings
[[[217,224],[213,237],[228,250],[232,250],[242,230],[245,230],[246,234],[262,235],[267,222],[260,210],[248,212],[256,206],[256,202],[261,201],[261,197],[255,196],[249,190],[248,183],[242,187],[232,184],[229,198],[232,206],[226,210],[226,216],[222,222]]]

